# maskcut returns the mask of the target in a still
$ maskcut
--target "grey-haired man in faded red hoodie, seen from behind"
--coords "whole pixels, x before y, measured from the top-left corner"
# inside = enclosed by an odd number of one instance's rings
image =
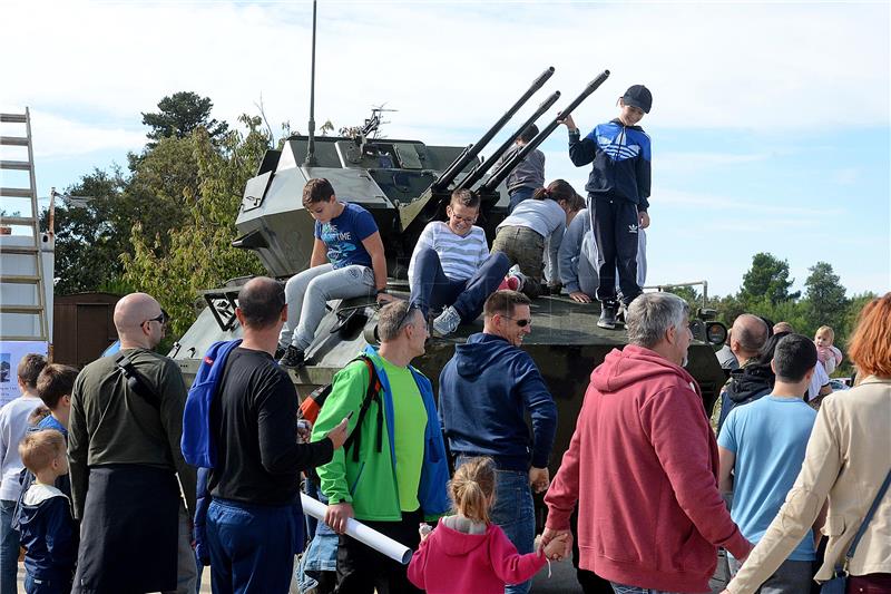
[[[752,545],[718,491],[715,437],[683,367],[689,308],[646,293],[628,308],[629,344],[591,373],[576,431],[545,497],[545,542],[569,532],[578,502],[579,567],[618,594],[708,592],[717,547]]]

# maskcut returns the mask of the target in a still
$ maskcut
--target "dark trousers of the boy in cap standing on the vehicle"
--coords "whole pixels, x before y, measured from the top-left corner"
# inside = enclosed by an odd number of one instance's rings
[[[597,242],[597,299],[616,300],[616,270],[621,301],[629,304],[640,294],[637,284],[637,205],[623,198],[589,197],[594,241]]]

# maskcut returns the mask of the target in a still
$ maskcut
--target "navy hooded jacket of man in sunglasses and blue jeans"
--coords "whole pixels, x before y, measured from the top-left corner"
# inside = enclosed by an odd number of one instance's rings
[[[548,466],[557,407],[529,353],[501,337],[478,333],[456,348],[440,374],[439,413],[453,455],[491,456],[511,470]]]

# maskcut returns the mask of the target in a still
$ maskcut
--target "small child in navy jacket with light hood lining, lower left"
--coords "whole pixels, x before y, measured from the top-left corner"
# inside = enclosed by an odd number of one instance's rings
[[[19,533],[28,594],[67,594],[77,562],[77,528],[68,497],[53,485],[68,473],[65,437],[55,429],[33,431],[19,445],[26,468],[37,480],[22,498]]]

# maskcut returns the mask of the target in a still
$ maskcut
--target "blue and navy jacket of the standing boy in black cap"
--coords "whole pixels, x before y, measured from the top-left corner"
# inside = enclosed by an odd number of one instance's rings
[[[600,124],[585,138],[569,133],[569,158],[576,167],[594,163],[585,189],[593,198],[621,198],[649,207],[649,136],[640,126],[625,126],[614,119]]]

